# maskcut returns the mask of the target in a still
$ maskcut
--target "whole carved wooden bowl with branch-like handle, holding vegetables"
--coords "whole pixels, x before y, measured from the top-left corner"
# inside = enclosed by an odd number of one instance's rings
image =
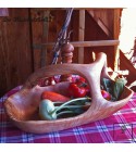
[[[28,77],[18,92],[7,99],[4,102],[5,111],[15,126],[27,132],[35,134],[63,130],[103,119],[119,111],[133,96],[133,91],[125,87],[119,101],[111,102],[103,99],[100,91],[100,79],[103,77],[110,79],[106,67],[107,55],[101,52],[91,64],[57,64],[40,68]],[[91,105],[85,113],[74,117],[40,121],[37,109],[41,92],[51,90],[65,96],[69,83],[40,87],[37,85],[37,81],[42,77],[51,77],[60,74],[77,74],[86,78],[90,87]]]

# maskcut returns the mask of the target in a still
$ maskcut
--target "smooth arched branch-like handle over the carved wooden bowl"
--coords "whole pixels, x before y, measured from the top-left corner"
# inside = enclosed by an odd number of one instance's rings
[[[32,74],[24,88],[33,88],[37,85],[38,80],[44,77],[51,77],[54,75],[77,74],[83,76],[89,84],[91,97],[97,100],[101,97],[100,91],[100,77],[101,74],[106,77],[106,61],[104,53],[97,54],[96,61],[91,64],[55,64],[42,67]],[[96,96],[97,94],[97,96]],[[96,99],[97,97],[97,99]]]

